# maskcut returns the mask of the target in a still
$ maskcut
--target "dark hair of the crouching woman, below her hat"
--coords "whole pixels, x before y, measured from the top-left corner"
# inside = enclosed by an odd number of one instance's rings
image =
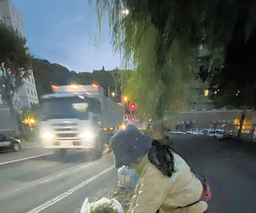
[[[148,160],[161,171],[164,176],[171,177],[174,172],[172,148],[153,140],[148,150]]]

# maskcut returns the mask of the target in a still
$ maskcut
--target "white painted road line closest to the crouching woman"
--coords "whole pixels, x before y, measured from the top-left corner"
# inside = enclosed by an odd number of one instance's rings
[[[61,199],[65,199],[67,198],[67,196],[75,193],[76,191],[78,191],[81,187],[84,187],[86,185],[88,185],[91,181],[95,181],[97,178],[99,178],[100,176],[103,176],[104,174],[106,174],[108,171],[113,170],[114,165],[108,167],[108,169],[103,170],[102,172],[100,172],[98,175],[96,176],[92,176],[90,179],[81,182],[79,185],[77,185],[76,187],[73,187],[71,189],[69,189],[67,192],[65,193],[61,193],[60,195],[58,195],[57,197],[55,197],[54,199],[49,200],[48,202],[39,205],[37,208],[29,211],[28,213],[38,213],[42,210],[45,210],[46,208],[48,208],[50,205],[53,205],[59,201],[61,201]]]

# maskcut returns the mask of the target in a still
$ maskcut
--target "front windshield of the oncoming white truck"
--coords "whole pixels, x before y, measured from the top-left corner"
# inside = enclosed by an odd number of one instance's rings
[[[44,100],[41,107],[41,118],[43,120],[58,118],[88,119],[88,101],[79,97],[51,98]]]

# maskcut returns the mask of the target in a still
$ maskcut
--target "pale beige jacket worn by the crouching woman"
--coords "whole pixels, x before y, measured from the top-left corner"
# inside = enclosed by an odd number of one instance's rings
[[[190,171],[188,164],[177,153],[174,157],[174,174],[164,176],[145,155],[133,169],[137,171],[139,181],[131,199],[128,213],[202,213],[207,203],[200,201],[202,186]],[[184,207],[193,204],[189,207]],[[183,208],[177,208],[183,207]]]

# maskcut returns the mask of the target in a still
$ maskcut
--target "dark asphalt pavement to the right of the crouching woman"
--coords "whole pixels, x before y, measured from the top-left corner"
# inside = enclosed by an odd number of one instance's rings
[[[204,135],[169,135],[191,170],[210,181],[207,213],[256,212],[255,151]]]

